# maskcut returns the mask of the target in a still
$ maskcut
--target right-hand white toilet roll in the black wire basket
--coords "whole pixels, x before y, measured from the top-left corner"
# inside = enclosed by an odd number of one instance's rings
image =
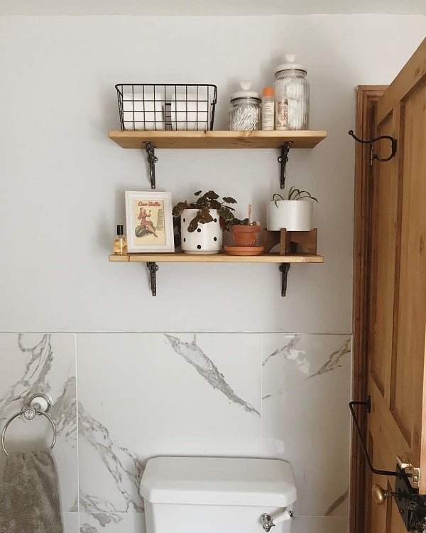
[[[185,92],[174,93],[170,104],[172,129],[207,130],[210,129],[211,102],[204,94],[187,95]]]

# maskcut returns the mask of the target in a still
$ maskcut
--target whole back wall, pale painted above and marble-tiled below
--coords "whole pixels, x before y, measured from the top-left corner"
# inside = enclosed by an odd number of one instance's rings
[[[35,392],[53,398],[66,533],[143,533],[146,460],[190,453],[290,461],[292,533],[347,530],[347,131],[356,85],[391,82],[425,29],[426,16],[0,18],[0,427]],[[277,265],[160,264],[153,298],[144,264],[108,262],[124,191],[150,189],[145,154],[107,137],[114,84],[214,83],[226,129],[237,82],[271,84],[289,50],[308,68],[311,128],[328,130],[290,151],[287,182],[319,199],[324,264],[293,265],[285,298]],[[157,155],[175,201],[214,188],[264,222],[279,190],[275,150]],[[10,449],[49,438],[14,424]]]

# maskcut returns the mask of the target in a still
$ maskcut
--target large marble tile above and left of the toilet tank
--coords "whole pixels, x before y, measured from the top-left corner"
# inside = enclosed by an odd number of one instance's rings
[[[258,456],[261,336],[77,336],[80,504],[141,512],[146,459]]]

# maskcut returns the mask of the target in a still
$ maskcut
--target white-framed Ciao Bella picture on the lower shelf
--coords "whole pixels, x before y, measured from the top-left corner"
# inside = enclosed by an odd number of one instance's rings
[[[170,193],[126,190],[126,230],[129,253],[174,252]]]

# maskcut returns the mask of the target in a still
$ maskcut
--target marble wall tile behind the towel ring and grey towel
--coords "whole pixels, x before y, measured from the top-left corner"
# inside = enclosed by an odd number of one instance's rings
[[[58,465],[62,510],[77,511],[77,412],[75,389],[75,335],[0,333],[2,365],[0,373],[0,425],[37,392],[53,400],[50,414],[56,423],[58,438],[53,456]],[[42,448],[52,439],[50,423],[38,416],[35,420],[14,420],[6,432],[9,451]],[[0,453],[0,471],[5,456]]]

